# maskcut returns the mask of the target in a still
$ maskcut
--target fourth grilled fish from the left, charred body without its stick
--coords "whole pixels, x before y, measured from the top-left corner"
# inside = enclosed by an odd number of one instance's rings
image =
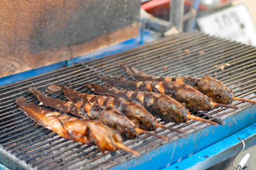
[[[150,113],[162,118],[166,122],[188,122],[186,115],[189,114],[189,111],[182,104],[175,101],[175,99],[164,94],[117,90],[100,86],[95,83],[88,84],[86,86],[98,94],[123,97],[124,99],[127,99],[127,101],[139,103]]]

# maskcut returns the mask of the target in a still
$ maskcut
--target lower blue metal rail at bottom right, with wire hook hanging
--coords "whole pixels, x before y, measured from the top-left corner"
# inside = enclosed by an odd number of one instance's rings
[[[244,139],[245,149],[250,148],[256,143],[256,123],[236,132],[232,136],[228,136],[218,143],[205,148],[204,150],[195,153],[187,159],[181,160],[172,166],[164,168],[164,170],[171,169],[206,169],[215,164],[222,162],[230,157],[236,155],[242,147],[241,141],[238,138]],[[234,146],[237,146],[234,150]],[[238,161],[238,160],[237,160]]]

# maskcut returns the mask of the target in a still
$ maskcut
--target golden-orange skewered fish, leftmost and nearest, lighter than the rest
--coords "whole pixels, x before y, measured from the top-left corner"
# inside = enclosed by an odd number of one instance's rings
[[[134,155],[140,155],[135,150],[123,145],[121,136],[104,124],[41,108],[35,103],[26,103],[25,98],[17,99],[16,104],[29,118],[63,138],[81,144],[94,143],[102,152],[123,149]]]

